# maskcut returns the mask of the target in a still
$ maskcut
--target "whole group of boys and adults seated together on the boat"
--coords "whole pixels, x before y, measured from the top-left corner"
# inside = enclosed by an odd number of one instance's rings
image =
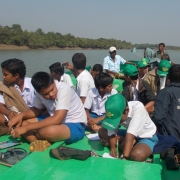
[[[0,135],[10,131],[15,138],[23,136],[35,151],[57,141],[77,142],[88,129],[99,133],[113,157],[119,144],[122,159],[145,161],[158,134],[180,141],[180,65],[163,55],[157,67],[150,67],[146,54],[135,65],[111,47],[104,65],[95,64],[88,72],[86,56],[76,53],[72,64],[65,64],[77,80],[75,91],[60,62],[49,67],[50,73],[27,78],[23,61],[6,60],[1,63]],[[123,92],[113,89],[113,78],[124,79]]]

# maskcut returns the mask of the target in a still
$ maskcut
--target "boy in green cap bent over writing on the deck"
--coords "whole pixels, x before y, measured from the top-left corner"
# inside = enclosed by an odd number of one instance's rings
[[[99,130],[99,137],[110,145],[110,154],[118,157],[116,145],[120,143],[122,159],[145,161],[158,142],[156,126],[144,105],[139,101],[126,103],[121,94],[116,94],[105,103],[106,117]],[[119,124],[127,130],[119,129]]]

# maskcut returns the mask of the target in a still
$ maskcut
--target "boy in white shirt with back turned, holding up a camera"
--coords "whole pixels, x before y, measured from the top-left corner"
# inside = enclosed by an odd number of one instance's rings
[[[86,68],[86,56],[83,53],[76,53],[72,57],[73,66],[67,62],[66,68],[71,70],[77,80],[76,92],[84,103],[88,90],[94,88],[94,79]]]

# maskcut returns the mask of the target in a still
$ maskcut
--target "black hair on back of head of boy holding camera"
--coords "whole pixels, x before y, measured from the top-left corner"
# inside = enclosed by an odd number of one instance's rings
[[[72,57],[72,62],[77,70],[86,68],[86,56],[83,53],[75,53]]]

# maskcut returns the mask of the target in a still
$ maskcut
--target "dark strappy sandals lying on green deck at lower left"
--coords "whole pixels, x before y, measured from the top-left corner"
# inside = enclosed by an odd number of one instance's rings
[[[5,153],[0,153],[0,164],[12,167],[24,159],[28,153],[22,148],[8,149]]]

